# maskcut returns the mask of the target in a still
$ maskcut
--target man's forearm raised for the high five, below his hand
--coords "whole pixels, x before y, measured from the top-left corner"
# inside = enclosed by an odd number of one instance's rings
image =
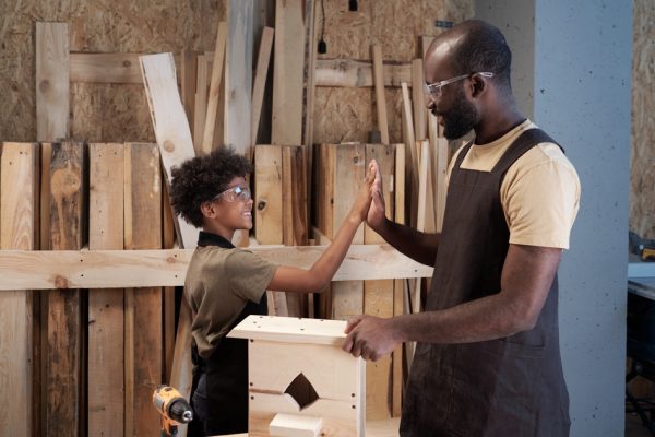
[[[386,243],[413,260],[426,265],[434,265],[439,234],[425,234],[409,226],[385,220],[374,229]]]

